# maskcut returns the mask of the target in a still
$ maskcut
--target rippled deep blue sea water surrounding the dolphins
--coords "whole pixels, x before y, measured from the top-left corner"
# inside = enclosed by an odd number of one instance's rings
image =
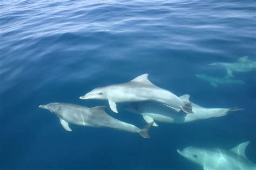
[[[2,1],[0,3],[0,169],[202,169],[181,157],[187,146],[232,148],[251,141],[256,163],[256,76],[213,87],[194,76],[223,77],[213,62],[256,60],[254,1]],[[70,125],[38,108],[51,102],[87,107],[92,89],[143,73],[204,107],[240,107],[224,117],[136,133]],[[140,128],[142,117],[107,113]]]

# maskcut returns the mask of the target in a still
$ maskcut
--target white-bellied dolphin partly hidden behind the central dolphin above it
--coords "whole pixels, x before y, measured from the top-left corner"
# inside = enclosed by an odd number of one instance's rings
[[[180,96],[183,101],[189,101],[190,95]],[[156,102],[138,102],[124,104],[122,108],[126,111],[142,115],[147,123],[154,122],[153,126],[158,126],[155,121],[162,123],[183,124],[191,121],[222,117],[231,111],[242,110],[242,108],[205,108],[192,104],[194,114],[180,114],[170,107]]]

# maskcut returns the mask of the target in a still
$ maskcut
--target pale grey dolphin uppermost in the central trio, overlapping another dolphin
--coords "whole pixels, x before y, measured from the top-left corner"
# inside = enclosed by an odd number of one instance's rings
[[[116,113],[116,103],[135,101],[157,101],[170,107],[181,108],[186,113],[193,113],[190,103],[184,103],[172,92],[154,85],[148,76],[149,74],[142,74],[127,83],[98,87],[80,99],[109,100],[111,110]]]

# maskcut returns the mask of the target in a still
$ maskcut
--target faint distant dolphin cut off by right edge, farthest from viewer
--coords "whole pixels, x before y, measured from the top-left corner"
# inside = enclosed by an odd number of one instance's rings
[[[248,56],[240,57],[234,63],[212,63],[209,65],[222,65],[226,68],[227,74],[234,77],[233,72],[249,72],[256,70],[256,61],[248,59]]]

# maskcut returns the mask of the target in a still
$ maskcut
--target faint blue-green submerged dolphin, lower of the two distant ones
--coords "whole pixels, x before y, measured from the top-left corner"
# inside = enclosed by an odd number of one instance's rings
[[[194,76],[196,76],[200,79],[203,79],[205,81],[208,81],[213,87],[217,87],[218,84],[241,84],[241,85],[245,84],[245,81],[233,79],[228,76],[226,76],[224,78],[211,77],[206,74],[196,74]]]

